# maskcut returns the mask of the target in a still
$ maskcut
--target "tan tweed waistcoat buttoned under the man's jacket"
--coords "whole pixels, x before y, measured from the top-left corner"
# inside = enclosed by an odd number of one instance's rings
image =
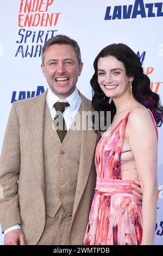
[[[81,107],[79,113],[82,113]],[[76,192],[82,131],[67,132],[61,143],[45,104],[43,151],[45,163],[46,214],[54,217],[62,205],[72,215]]]

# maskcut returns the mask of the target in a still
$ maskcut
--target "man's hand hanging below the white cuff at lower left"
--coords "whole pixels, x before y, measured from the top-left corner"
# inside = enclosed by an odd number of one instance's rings
[[[26,245],[22,229],[14,229],[4,236],[4,245]]]

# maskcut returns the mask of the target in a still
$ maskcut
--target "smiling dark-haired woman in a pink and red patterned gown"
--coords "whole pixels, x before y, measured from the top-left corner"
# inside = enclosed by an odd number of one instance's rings
[[[156,125],[162,124],[163,115],[159,95],[151,91],[139,58],[127,45],[106,46],[94,68],[92,106],[111,111],[111,126],[96,148],[97,183],[84,245],[153,245]],[[136,179],[142,206],[133,194]]]

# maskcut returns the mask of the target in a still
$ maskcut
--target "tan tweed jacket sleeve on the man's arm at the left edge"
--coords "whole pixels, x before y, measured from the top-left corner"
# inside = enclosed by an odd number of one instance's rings
[[[0,159],[0,222],[2,232],[21,224],[18,209],[18,175],[20,172],[20,125],[16,102],[12,104]]]

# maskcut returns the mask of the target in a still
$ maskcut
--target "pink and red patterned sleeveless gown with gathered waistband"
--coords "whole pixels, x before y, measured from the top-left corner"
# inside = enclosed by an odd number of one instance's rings
[[[156,124],[151,111],[155,129]],[[121,154],[129,113],[96,148],[96,192],[91,205],[84,245],[140,245],[142,208],[132,194],[133,180],[121,179]]]

